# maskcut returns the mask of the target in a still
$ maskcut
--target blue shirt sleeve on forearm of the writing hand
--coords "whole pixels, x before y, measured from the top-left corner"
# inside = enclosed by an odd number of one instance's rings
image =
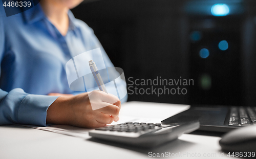
[[[0,18],[1,61],[5,46],[2,19]],[[12,89],[9,93],[0,89],[0,125],[28,124],[46,126],[47,109],[57,98],[56,96],[30,95],[20,88]]]

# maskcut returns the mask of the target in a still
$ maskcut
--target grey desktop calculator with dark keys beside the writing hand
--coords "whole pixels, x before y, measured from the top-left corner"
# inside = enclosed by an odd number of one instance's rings
[[[125,122],[108,125],[89,131],[93,138],[119,142],[141,147],[154,147],[177,139],[183,133],[189,133],[200,127],[198,121],[183,124],[161,124],[145,122]]]

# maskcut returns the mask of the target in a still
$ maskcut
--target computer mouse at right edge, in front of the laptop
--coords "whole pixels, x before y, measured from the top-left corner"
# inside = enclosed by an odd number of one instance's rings
[[[222,150],[230,152],[256,151],[256,126],[238,128],[224,134],[220,140]]]

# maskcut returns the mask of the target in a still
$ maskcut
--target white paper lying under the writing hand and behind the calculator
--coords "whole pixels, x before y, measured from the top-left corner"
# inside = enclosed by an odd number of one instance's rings
[[[150,103],[150,102],[127,102],[122,105],[119,121],[110,125],[124,122],[146,122],[160,123],[165,118],[174,116],[189,108],[189,105]],[[93,129],[74,127],[69,125],[51,125],[47,127],[37,127],[33,125],[23,125],[38,130],[51,131],[55,133],[70,135],[78,138],[88,138],[89,131]]]

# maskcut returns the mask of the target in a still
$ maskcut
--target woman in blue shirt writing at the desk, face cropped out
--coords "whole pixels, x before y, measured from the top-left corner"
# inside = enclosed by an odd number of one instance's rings
[[[80,3],[41,0],[23,13],[1,17],[0,125],[92,128],[118,121],[117,97],[97,90],[79,94],[68,86],[65,64],[80,53],[101,48],[104,63],[97,65],[113,66],[92,29],[69,10]],[[89,96],[96,98],[90,101]],[[109,106],[92,110],[92,102]]]

